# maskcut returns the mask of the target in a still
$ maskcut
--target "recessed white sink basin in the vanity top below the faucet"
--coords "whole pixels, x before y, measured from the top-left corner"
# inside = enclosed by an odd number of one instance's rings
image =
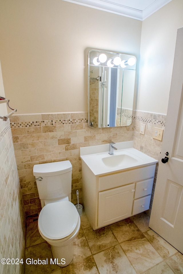
[[[129,155],[121,154],[110,155],[109,157],[102,158],[102,162],[107,167],[120,167],[121,165],[131,165],[137,163],[138,160]]]

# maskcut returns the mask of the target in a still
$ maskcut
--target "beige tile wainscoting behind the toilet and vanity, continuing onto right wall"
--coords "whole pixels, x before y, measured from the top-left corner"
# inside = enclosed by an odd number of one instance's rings
[[[164,128],[165,116],[134,112],[132,125],[91,129],[87,112],[13,115],[10,118],[15,157],[27,217],[37,217],[41,204],[33,165],[69,160],[72,163],[71,201],[76,204],[76,190],[82,204],[81,159],[79,148],[134,140],[134,147],[159,159],[161,142],[152,138],[154,126]],[[140,123],[146,124],[145,135]]]

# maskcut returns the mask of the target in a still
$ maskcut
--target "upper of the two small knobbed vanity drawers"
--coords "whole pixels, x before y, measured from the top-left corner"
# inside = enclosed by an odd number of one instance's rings
[[[152,192],[154,177],[136,183],[134,199],[147,196]]]

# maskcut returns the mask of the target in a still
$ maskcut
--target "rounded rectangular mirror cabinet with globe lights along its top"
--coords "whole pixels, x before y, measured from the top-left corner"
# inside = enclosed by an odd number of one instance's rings
[[[135,56],[94,49],[89,51],[89,127],[120,127],[132,123],[135,70]]]

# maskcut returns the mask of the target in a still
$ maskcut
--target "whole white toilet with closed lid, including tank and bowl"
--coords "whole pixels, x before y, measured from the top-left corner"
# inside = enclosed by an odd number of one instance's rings
[[[41,200],[39,233],[50,245],[53,259],[63,267],[74,256],[73,241],[80,228],[80,217],[71,200],[70,161],[34,165],[33,175]]]

